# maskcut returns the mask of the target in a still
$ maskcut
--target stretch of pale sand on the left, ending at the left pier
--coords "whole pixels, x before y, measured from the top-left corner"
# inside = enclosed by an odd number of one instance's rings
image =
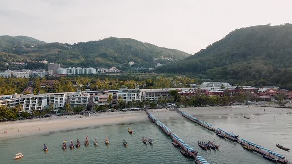
[[[110,112],[101,113],[98,114],[98,116],[91,115],[91,117],[79,117],[80,116],[60,116],[0,123],[0,139],[46,134],[52,131],[70,130],[89,126],[133,123],[148,120],[144,111]],[[4,134],[4,131],[8,131],[8,134]]]

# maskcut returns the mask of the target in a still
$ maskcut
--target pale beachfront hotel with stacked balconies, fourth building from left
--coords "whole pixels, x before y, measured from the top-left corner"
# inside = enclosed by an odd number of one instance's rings
[[[76,107],[78,105],[86,106],[88,105],[88,100],[89,100],[89,93],[77,91],[76,93],[72,93],[69,95],[70,97],[70,106],[71,107]]]

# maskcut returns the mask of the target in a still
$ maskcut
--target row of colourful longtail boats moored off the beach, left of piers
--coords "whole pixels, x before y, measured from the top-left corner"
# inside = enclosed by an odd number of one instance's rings
[[[130,134],[133,134],[133,130],[131,130],[130,128],[128,128],[128,132],[129,132]],[[63,142],[63,144],[62,144],[62,149],[63,149],[63,150],[67,149],[67,144],[66,144],[66,142],[67,142],[67,141],[65,140],[65,141]],[[150,137],[148,138],[148,140],[146,140],[144,137],[142,137],[142,142],[143,142],[144,144],[147,144],[147,142],[149,142],[149,144],[153,144],[153,140],[152,140]],[[105,145],[109,145],[108,137],[105,138],[104,143],[105,143]],[[94,144],[95,146],[97,146],[97,138],[95,138],[93,144]],[[124,139],[124,140],[123,140],[123,145],[126,147],[127,144],[128,144],[127,141]],[[88,145],[89,145],[88,136],[85,137],[84,145],[85,145],[85,146],[88,146]],[[76,147],[76,148],[79,148],[79,147],[80,147],[80,141],[79,141],[78,139],[77,139],[75,145],[74,145],[73,141],[71,140],[71,142],[70,142],[70,144],[69,144],[69,148],[72,150],[72,149],[74,149],[74,147]],[[46,146],[46,144],[44,144],[44,146],[43,146],[43,150],[44,150],[44,151],[48,151],[48,147]]]

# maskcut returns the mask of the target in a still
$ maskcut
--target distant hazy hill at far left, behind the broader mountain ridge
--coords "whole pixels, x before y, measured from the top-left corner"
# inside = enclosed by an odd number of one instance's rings
[[[26,36],[9,36],[3,35],[0,36],[0,51],[5,50],[6,48],[10,49],[17,46],[24,46],[24,45],[40,45],[46,44],[44,41],[39,41],[37,39],[26,37]]]

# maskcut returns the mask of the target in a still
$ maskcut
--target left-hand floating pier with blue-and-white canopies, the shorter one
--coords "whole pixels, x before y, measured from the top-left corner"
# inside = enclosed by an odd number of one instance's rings
[[[176,134],[174,134],[167,126],[165,126],[163,123],[157,120],[155,116],[153,116],[148,111],[146,111],[146,113],[148,114],[148,117],[150,118],[150,120],[153,123],[155,123],[158,127],[160,127],[160,129],[164,131],[167,135],[169,135],[172,138],[172,140],[174,140],[179,145],[181,149],[186,151],[189,154],[189,156],[192,156],[195,158],[196,164],[210,164],[201,156],[197,156],[197,152],[191,146],[186,144],[182,139],[180,139]]]

